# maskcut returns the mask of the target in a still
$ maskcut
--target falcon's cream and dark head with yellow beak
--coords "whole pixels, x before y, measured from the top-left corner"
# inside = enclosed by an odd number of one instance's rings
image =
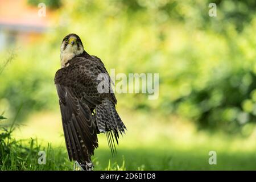
[[[65,36],[60,47],[61,67],[64,67],[69,60],[82,52],[84,52],[84,46],[78,35],[68,34]]]

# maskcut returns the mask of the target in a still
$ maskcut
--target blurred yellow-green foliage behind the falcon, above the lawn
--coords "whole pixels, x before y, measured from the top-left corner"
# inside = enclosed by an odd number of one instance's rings
[[[3,72],[11,113],[57,107],[53,77],[61,40],[79,34],[108,71],[159,73],[159,99],[117,94],[118,107],[176,114],[236,133],[256,118],[255,1],[61,1],[58,26]],[[22,65],[22,66],[20,66]],[[3,102],[3,100],[2,100]]]

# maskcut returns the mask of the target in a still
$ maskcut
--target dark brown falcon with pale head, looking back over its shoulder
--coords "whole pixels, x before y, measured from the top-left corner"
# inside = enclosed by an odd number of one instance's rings
[[[92,170],[91,156],[98,147],[97,134],[105,133],[112,153],[126,127],[115,110],[110,76],[97,56],[89,55],[76,34],[65,36],[60,47],[61,69],[55,74],[61,118],[69,160]],[[109,92],[98,92],[99,74],[108,81]]]

